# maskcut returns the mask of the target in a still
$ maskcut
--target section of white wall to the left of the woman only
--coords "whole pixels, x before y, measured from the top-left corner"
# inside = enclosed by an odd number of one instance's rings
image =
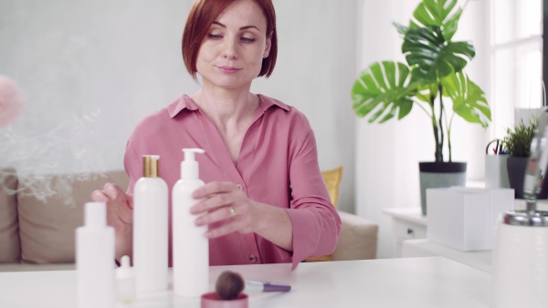
[[[51,159],[30,155],[17,169],[47,173],[123,168],[126,139],[135,124],[197,89],[184,74],[180,56],[189,5],[2,1],[0,74],[16,79],[26,96],[16,133],[58,154]],[[83,131],[73,134],[70,128],[78,125]],[[60,149],[69,147],[88,155],[73,157]]]

